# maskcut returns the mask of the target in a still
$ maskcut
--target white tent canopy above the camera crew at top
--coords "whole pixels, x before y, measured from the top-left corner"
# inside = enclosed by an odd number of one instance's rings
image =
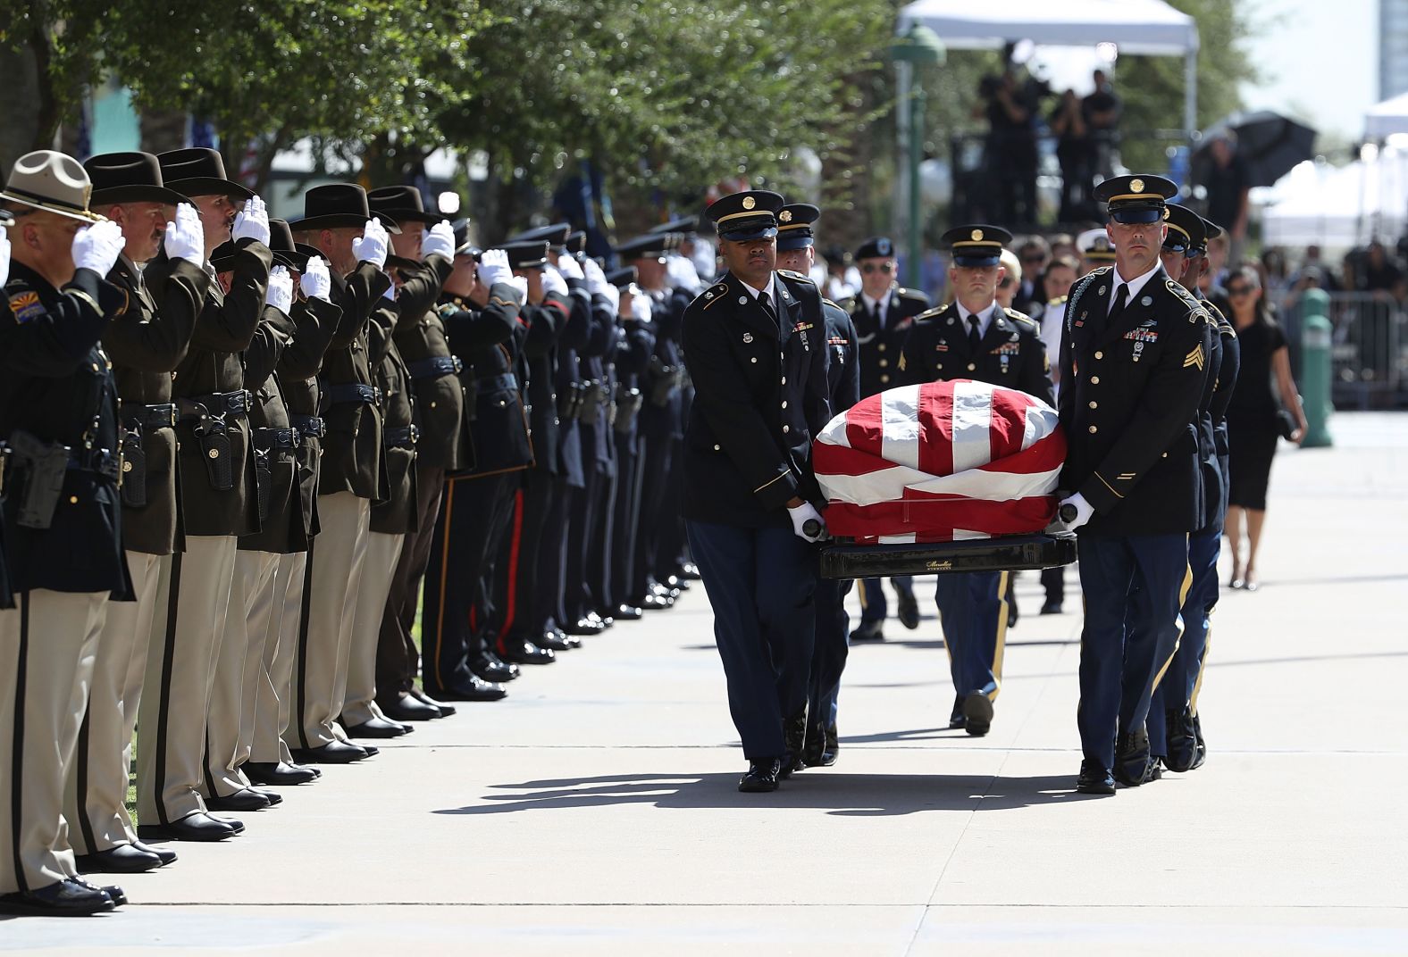
[[[928,27],[949,49],[991,49],[1029,39],[1046,46],[1115,44],[1122,53],[1184,56],[1184,128],[1197,128],[1198,25],[1163,0],[918,0],[895,32]]]

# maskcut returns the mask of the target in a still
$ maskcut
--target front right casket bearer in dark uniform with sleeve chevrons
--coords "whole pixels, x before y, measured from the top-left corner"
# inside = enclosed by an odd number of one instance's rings
[[[1114,794],[1117,780],[1136,787],[1149,773],[1145,719],[1181,630],[1188,532],[1204,522],[1197,414],[1214,327],[1159,263],[1176,194],[1162,176],[1100,184],[1115,265],[1081,279],[1066,308],[1062,487],[1074,494],[1062,504],[1076,508],[1086,605],[1084,794]]]

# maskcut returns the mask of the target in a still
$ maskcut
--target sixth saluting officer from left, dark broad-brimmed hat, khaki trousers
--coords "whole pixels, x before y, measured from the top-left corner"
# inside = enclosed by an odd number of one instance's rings
[[[294,234],[329,256],[334,269],[332,303],[341,310],[332,342],[322,356],[320,395],[324,436],[318,470],[318,536],[308,549],[304,573],[308,619],[300,630],[293,683],[293,718],[286,732],[293,756],[311,763],[358,761],[376,749],[352,744],[337,723],[346,692],[352,619],[366,562],[372,502],[387,497],[382,438],[382,397],[367,357],[372,310],[391,287],[382,272],[387,229],[367,208],[360,186],[317,186],[304,194],[304,218],[290,224]],[[373,225],[377,224],[377,225]],[[363,229],[351,256],[334,249],[346,242],[331,229]],[[328,243],[327,249],[318,246]],[[338,258],[356,265],[342,274]]]

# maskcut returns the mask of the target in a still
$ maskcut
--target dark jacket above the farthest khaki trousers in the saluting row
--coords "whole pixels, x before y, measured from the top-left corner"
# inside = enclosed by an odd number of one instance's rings
[[[406,287],[401,287],[404,294]],[[411,374],[396,348],[396,325],[400,321],[397,303],[382,300],[372,312],[367,331],[376,387],[382,390],[382,441],[386,445],[387,498],[372,508],[372,531],[383,535],[414,532],[415,515],[415,456],[420,453],[420,428],[415,426],[415,394]],[[413,312],[424,312],[418,307]],[[413,428],[414,426],[414,428]]]

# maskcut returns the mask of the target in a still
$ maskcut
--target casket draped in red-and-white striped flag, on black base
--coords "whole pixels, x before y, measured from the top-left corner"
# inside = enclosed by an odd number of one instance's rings
[[[831,533],[821,574],[1070,564],[1076,536],[1056,518],[1064,460],[1056,410],[1015,388],[957,379],[870,395],[812,443]]]

